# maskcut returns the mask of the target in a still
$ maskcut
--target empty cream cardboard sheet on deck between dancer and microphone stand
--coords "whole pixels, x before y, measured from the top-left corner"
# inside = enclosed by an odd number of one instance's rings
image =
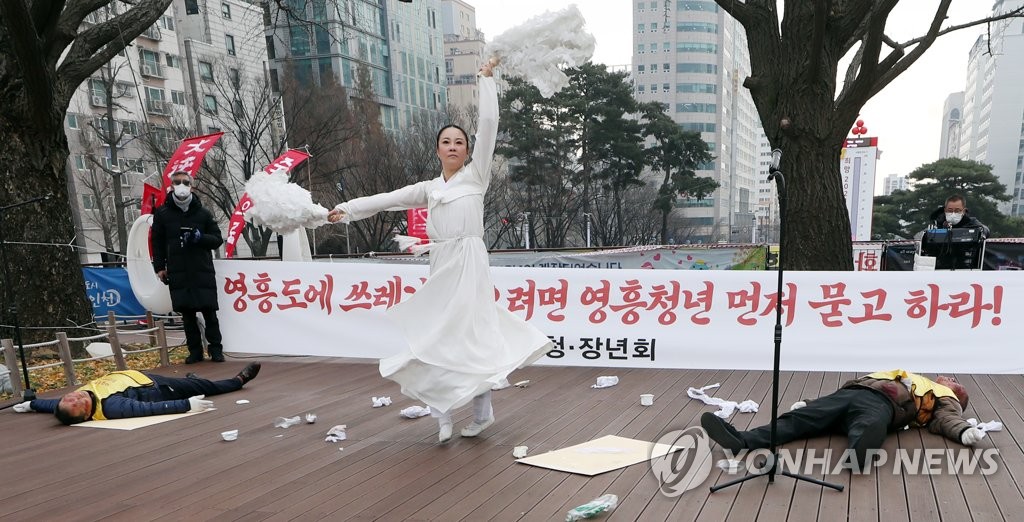
[[[605,435],[589,442],[519,459],[516,462],[593,477],[680,449],[685,449],[685,446],[670,446]]]

